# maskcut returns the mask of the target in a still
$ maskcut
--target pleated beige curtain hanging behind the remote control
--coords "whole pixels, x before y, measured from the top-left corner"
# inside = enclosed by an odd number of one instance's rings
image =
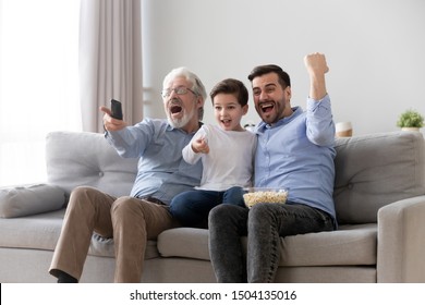
[[[124,121],[138,122],[142,105],[139,0],[82,0],[80,87],[83,129],[104,132],[100,106],[122,102]]]

